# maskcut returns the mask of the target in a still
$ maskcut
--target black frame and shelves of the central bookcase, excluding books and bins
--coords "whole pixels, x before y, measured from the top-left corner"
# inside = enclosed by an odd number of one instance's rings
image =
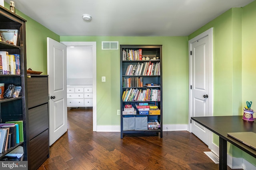
[[[136,51],[140,50],[142,51],[142,56],[148,56],[150,58],[150,60],[141,60],[141,59],[136,59],[136,57],[138,57],[138,55],[133,55],[133,59],[127,59],[126,57],[124,57],[124,51],[126,51],[126,55],[127,53],[129,53],[130,51],[134,51],[134,53],[136,53]],[[154,57],[158,57],[157,59],[153,59]],[[136,74],[136,75],[125,75],[126,74],[126,70],[127,67],[130,64],[142,64],[142,63],[160,63],[160,70],[159,73],[156,75],[143,75],[142,72],[140,73],[140,75]],[[145,65],[144,65],[145,66]],[[143,69],[143,68],[142,68]],[[142,85],[132,85],[132,86],[126,86],[126,82],[124,82],[124,80],[126,78],[137,78],[136,80],[133,81],[137,81],[138,78],[142,79]],[[138,83],[138,82],[137,82]],[[157,86],[145,86],[146,84],[150,84],[153,83],[154,85]],[[125,84],[125,85],[124,85]],[[124,91],[126,90],[130,90],[130,89],[138,89],[138,90],[158,90],[160,91],[160,100],[159,101],[123,101],[123,94]],[[148,104],[154,104],[156,106],[158,106],[158,109],[160,109],[160,115],[144,115],[144,114],[139,114],[139,111],[136,108],[135,104],[136,103],[143,103],[146,102]],[[136,110],[136,115],[122,115],[122,111],[123,108],[125,106],[125,104],[131,104],[134,109]],[[160,137],[162,138],[162,45],[120,45],[120,122],[121,122],[121,139],[124,137],[125,134],[144,134],[144,135],[158,135],[160,133]],[[158,123],[160,123],[160,128],[157,130],[152,130],[152,129],[143,129],[143,130],[136,130],[135,129],[130,129],[130,130],[124,130],[124,119],[126,119],[126,117],[137,117],[138,118],[140,116],[144,116],[144,118],[146,117],[147,120],[158,120]],[[135,119],[135,123],[136,123],[136,119]],[[145,122],[144,122],[145,123]],[[147,122],[146,122],[147,125]],[[125,125],[126,126],[126,125]],[[136,125],[135,125],[136,127]],[[126,127],[125,127],[126,129]]]

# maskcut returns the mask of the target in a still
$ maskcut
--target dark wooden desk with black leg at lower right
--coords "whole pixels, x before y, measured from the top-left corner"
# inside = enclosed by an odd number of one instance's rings
[[[256,150],[227,135],[228,132],[256,133],[256,121],[244,121],[242,116],[191,117],[191,119],[219,136],[220,170],[227,169],[227,141],[256,158]]]

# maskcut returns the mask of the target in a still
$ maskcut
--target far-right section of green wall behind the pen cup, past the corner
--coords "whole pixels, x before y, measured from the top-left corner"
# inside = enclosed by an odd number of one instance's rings
[[[256,1],[242,11],[242,103],[252,101],[256,110]],[[256,117],[256,113],[254,113]],[[243,157],[256,166],[256,158],[243,152]]]

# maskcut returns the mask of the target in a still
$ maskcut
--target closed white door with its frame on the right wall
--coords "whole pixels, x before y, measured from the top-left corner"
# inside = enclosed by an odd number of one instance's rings
[[[212,116],[212,47],[209,41],[209,35],[203,33],[189,42],[190,117]],[[211,145],[212,133],[208,129],[193,120],[190,125],[192,133],[206,145]]]

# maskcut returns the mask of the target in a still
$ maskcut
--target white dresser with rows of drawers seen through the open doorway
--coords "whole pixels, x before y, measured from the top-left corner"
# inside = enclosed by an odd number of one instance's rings
[[[67,86],[68,107],[92,107],[92,86]]]

